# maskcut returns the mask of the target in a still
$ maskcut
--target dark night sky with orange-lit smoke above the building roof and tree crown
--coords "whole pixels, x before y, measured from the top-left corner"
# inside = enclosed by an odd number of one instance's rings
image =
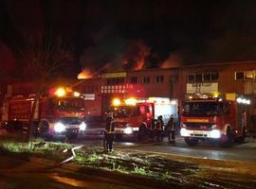
[[[144,62],[169,67],[256,60],[256,1],[242,0],[0,0],[0,63],[26,34],[40,41],[47,30],[74,47],[70,76]],[[9,62],[9,63],[5,63]],[[7,65],[8,66],[7,66]],[[14,66],[15,67],[15,66]]]

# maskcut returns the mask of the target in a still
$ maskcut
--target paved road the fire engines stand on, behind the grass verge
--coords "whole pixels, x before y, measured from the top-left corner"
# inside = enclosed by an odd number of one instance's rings
[[[76,141],[70,142],[84,146],[101,146],[102,138],[102,135],[87,134],[83,135]],[[247,139],[246,143],[235,143],[232,147],[221,147],[210,143],[201,143],[198,146],[187,146],[183,139],[179,137],[177,137],[175,146],[169,144],[166,138],[163,143],[157,144],[150,141],[137,142],[136,138],[126,137],[122,140],[116,141],[114,147],[159,153],[172,153],[205,159],[256,162],[256,139]]]

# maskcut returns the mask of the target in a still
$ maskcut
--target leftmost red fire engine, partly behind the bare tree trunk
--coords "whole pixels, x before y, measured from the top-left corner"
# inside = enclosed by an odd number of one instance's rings
[[[7,129],[27,128],[35,95],[16,95],[4,102],[2,121]],[[59,88],[52,96],[42,96],[34,113],[34,132],[44,137],[76,137],[86,129],[83,98]]]

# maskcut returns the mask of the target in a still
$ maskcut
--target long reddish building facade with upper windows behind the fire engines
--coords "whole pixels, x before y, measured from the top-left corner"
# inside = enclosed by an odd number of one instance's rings
[[[88,95],[97,96],[89,104],[98,107],[99,116],[114,97],[169,97],[181,102],[192,94],[246,95],[251,100],[251,124],[256,122],[256,61],[104,73],[101,77],[84,79],[80,89],[85,94],[92,89]]]

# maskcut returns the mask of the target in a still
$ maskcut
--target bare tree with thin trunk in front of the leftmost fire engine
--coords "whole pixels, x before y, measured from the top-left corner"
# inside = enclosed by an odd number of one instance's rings
[[[23,76],[35,83],[36,93],[30,112],[27,131],[27,142],[33,137],[33,123],[36,106],[44,90],[47,89],[47,81],[67,67],[72,61],[72,48],[64,41],[64,38],[51,38],[44,36],[40,42],[25,38],[25,46],[16,50],[16,58],[23,67]]]

